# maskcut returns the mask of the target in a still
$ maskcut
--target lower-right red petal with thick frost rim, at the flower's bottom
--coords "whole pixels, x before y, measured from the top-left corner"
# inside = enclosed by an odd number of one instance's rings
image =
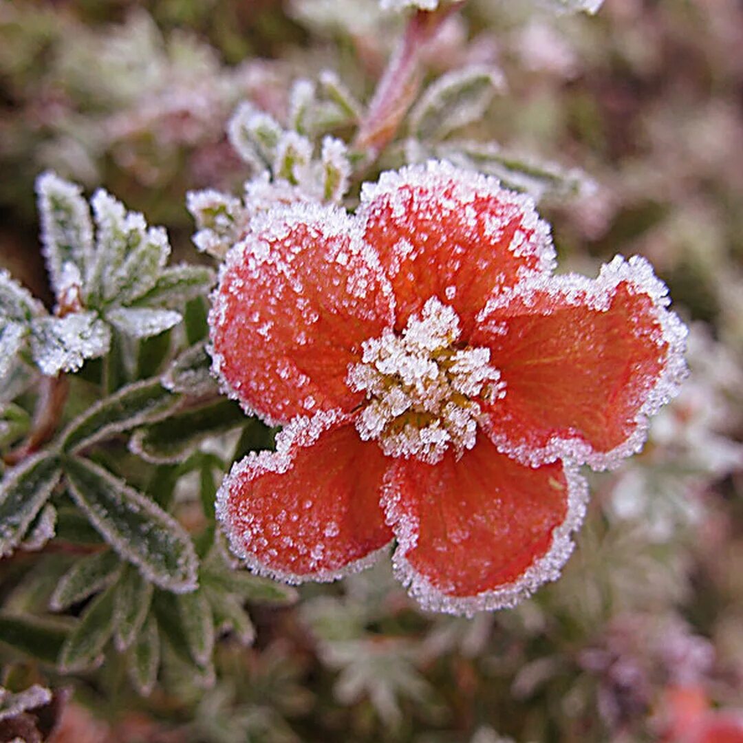
[[[460,459],[398,459],[382,498],[399,543],[395,571],[424,609],[513,606],[558,577],[585,497],[573,467],[524,467],[484,435]]]

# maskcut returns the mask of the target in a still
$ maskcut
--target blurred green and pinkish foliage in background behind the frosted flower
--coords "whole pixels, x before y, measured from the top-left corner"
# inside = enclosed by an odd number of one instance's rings
[[[238,192],[250,174],[224,134],[237,103],[283,122],[293,80],[326,69],[369,100],[403,23],[374,0],[0,0],[1,266],[50,302],[33,204],[46,168],[104,186],[198,260],[186,191]],[[466,65],[502,75],[464,130],[497,143],[498,158],[477,150],[484,169],[506,152],[590,175],[571,198],[544,190],[561,265],[653,262],[691,323],[684,391],[640,455],[591,476],[565,574],[517,609],[421,613],[383,562],[292,606],[251,605],[253,645],[221,637],[209,683],[175,655],[145,698],[113,653],[68,675],[13,659],[4,687],[55,695],[0,714],[0,740],[61,715],[67,743],[681,741],[680,705],[742,707],[743,6],[606,0],[554,16],[469,0],[424,62],[426,83]],[[403,123],[378,167],[424,146]],[[27,571],[52,569],[7,563],[6,609]]]

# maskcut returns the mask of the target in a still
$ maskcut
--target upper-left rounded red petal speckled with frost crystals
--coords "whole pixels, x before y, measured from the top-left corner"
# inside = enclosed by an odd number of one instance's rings
[[[214,369],[268,421],[357,406],[345,384],[361,343],[392,322],[392,294],[353,218],[274,210],[227,256],[210,312]]]

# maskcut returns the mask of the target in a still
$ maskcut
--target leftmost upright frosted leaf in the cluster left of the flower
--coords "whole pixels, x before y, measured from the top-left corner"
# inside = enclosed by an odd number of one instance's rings
[[[46,172],[36,180],[42,245],[52,288],[59,296],[62,269],[71,262],[84,273],[93,256],[90,210],[80,186]]]

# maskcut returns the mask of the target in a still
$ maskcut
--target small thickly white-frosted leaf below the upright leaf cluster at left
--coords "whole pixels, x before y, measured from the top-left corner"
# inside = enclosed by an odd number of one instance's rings
[[[86,359],[108,352],[111,331],[95,312],[74,312],[65,317],[40,317],[31,325],[31,354],[48,377],[77,371]]]

